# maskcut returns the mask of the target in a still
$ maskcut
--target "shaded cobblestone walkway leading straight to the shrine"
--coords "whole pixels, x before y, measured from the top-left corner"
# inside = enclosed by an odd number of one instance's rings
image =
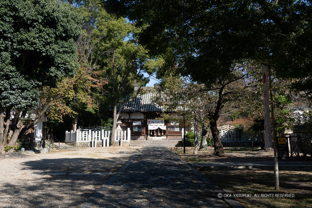
[[[146,147],[96,207],[228,207],[168,148]]]

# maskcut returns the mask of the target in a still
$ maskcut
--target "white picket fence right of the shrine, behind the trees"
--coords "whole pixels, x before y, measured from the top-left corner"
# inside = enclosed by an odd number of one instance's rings
[[[236,131],[235,127],[230,125],[217,128],[220,131],[221,142],[261,142],[261,133],[246,135],[242,131]]]

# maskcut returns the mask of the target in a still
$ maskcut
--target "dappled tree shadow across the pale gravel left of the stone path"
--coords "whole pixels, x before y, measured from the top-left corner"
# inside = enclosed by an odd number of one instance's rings
[[[115,173],[135,152],[110,159],[59,158],[23,162],[34,173]],[[27,171],[29,172],[29,171]],[[6,175],[0,184],[1,207],[76,207],[109,175]]]

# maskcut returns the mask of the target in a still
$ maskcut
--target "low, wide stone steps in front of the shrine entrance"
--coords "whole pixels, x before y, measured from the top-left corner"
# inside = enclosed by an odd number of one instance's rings
[[[183,147],[179,140],[130,140],[130,147]]]

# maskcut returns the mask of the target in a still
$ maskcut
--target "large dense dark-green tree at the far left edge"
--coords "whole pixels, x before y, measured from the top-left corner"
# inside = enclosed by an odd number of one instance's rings
[[[0,2],[0,152],[14,145],[42,86],[53,86],[78,68],[80,16],[58,0]],[[16,128],[8,138],[11,112]]]

